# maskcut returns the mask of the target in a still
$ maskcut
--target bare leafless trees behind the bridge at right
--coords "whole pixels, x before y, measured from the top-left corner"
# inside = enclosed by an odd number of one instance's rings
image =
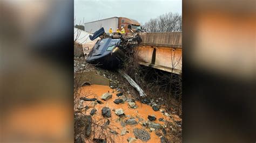
[[[143,25],[148,32],[180,32],[182,31],[182,16],[179,13],[165,13],[157,18],[151,18]]]

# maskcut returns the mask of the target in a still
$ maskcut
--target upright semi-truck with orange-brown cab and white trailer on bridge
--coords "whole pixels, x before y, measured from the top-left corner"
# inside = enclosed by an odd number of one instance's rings
[[[99,28],[104,28],[105,32],[109,32],[109,28],[112,28],[113,32],[116,32],[117,28],[121,30],[121,27],[125,28],[125,32],[142,30],[140,23],[134,19],[126,17],[111,17],[101,20],[96,20],[89,23],[84,23],[85,31],[95,33]]]

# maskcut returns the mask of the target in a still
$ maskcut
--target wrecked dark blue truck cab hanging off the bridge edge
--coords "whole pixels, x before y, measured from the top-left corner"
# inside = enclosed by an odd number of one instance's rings
[[[88,54],[86,61],[107,69],[120,68],[127,54],[131,54],[132,48],[139,45],[142,39],[138,33],[122,35],[120,33],[105,34],[104,28],[100,28],[92,36],[91,40],[100,37]]]

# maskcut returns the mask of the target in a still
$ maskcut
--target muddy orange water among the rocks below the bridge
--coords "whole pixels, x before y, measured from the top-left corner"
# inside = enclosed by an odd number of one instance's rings
[[[108,99],[107,101],[103,101],[102,99],[100,99],[100,97],[105,93],[105,92],[110,92],[112,94],[112,98]],[[118,92],[114,91],[113,89],[111,89],[108,86],[105,85],[90,85],[90,86],[86,86],[86,87],[82,87],[80,88],[80,95],[79,97],[87,97],[87,98],[97,98],[100,101],[103,102],[103,104],[97,104],[95,105],[95,108],[97,109],[97,112],[94,116],[92,116],[92,120],[93,122],[97,122],[100,123],[100,125],[103,125],[104,122],[109,119],[110,120],[110,125],[108,127],[112,128],[112,130],[116,131],[118,134],[112,136],[112,138],[114,139],[114,142],[127,142],[127,139],[129,137],[135,138],[134,134],[133,134],[133,129],[134,128],[144,128],[147,132],[150,133],[150,137],[151,139],[148,142],[160,142],[160,138],[156,135],[155,131],[150,132],[149,128],[145,128],[144,126],[140,125],[140,124],[135,124],[135,125],[126,125],[125,127],[122,127],[120,124],[120,120],[123,120],[125,122],[126,119],[129,119],[128,117],[122,117],[120,118],[119,116],[117,116],[114,111],[112,111],[113,109],[119,109],[122,108],[124,110],[125,115],[129,115],[130,117],[134,117],[137,121],[139,118],[144,119],[144,121],[148,120],[147,116],[148,115],[154,115],[156,116],[156,120],[154,122],[156,123],[160,123],[161,125],[164,124],[163,121],[159,121],[159,118],[164,118],[164,120],[171,120],[170,117],[164,116],[163,113],[161,113],[160,111],[154,111],[152,109],[151,106],[147,105],[147,104],[142,104],[138,101],[136,101],[136,104],[138,105],[138,108],[136,109],[131,109],[129,108],[129,104],[127,102],[125,102],[124,104],[120,103],[120,104],[115,104],[113,101],[114,99],[117,99],[118,97],[116,96]],[[127,95],[126,95],[127,97]],[[91,101],[84,101],[83,102],[84,106],[88,105],[91,107]],[[111,109],[111,118],[104,118],[102,116],[102,108],[106,106],[108,108]],[[93,108],[88,109],[87,111],[84,112],[85,115],[90,115],[90,111]],[[141,121],[143,122],[143,121]],[[128,131],[129,133],[126,132],[125,135],[120,135],[121,130],[123,128],[126,128],[126,131]],[[96,131],[97,133],[102,133],[100,131],[100,129],[97,129],[99,131]],[[96,138],[98,137],[99,134],[96,133]],[[93,139],[93,133],[91,135],[91,139]],[[134,142],[143,142],[140,139],[137,139]]]

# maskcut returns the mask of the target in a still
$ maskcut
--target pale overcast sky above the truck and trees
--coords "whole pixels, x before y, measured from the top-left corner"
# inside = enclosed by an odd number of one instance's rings
[[[110,17],[127,17],[145,23],[166,12],[182,12],[181,0],[75,0],[76,24]],[[82,24],[81,22],[81,24]]]

